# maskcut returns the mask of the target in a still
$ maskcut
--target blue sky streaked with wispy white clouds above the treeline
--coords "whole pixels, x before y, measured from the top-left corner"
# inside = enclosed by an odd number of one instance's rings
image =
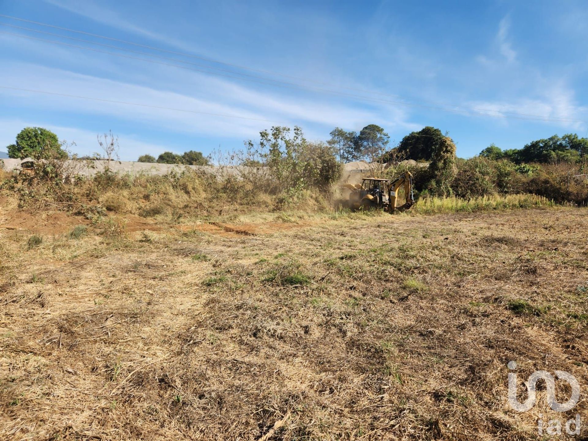
[[[0,32],[164,64],[0,34],[0,86],[145,105],[0,88],[0,151],[28,125],[52,129],[80,154],[98,151],[96,134],[112,130],[125,160],[240,148],[272,125],[299,125],[307,138],[326,140],[335,126],[376,123],[391,143],[432,125],[449,132],[462,157],[492,142],[521,148],[588,131],[581,0],[0,0],[0,14],[226,63],[0,17],[178,60],[1,25]]]

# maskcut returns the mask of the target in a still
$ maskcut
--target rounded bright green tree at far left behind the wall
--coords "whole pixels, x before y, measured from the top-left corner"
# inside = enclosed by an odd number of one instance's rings
[[[68,153],[55,133],[42,127],[26,127],[16,135],[16,143],[8,146],[9,158],[67,159]]]

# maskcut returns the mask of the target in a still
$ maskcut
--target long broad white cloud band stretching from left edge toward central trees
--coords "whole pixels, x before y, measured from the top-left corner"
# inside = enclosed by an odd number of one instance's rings
[[[167,67],[160,69],[159,66],[149,69],[149,75],[149,82],[154,83],[162,83],[161,80],[158,81],[159,78],[171,78],[173,75],[174,82],[166,83],[166,88],[178,89],[182,92],[82,75],[63,69],[26,63],[9,63],[0,71],[0,82],[5,86],[95,97],[109,101],[141,103],[159,108],[62,96],[32,95],[28,92],[6,89],[0,89],[0,93],[16,96],[19,104],[30,103],[31,107],[37,109],[101,114],[201,135],[222,133],[223,136],[250,138],[256,136],[260,129],[270,125],[300,125],[303,128],[307,125],[323,125],[329,131],[335,126],[355,129],[365,121],[381,123],[383,118],[380,115],[382,114],[387,116],[386,122],[392,125],[387,126],[389,130],[408,125],[405,121],[405,112],[391,105],[378,104],[372,108],[365,108],[365,106],[355,108],[349,103],[341,103],[340,99],[335,99],[333,103],[333,99],[329,102],[320,102],[322,99],[320,96],[313,96],[312,99],[302,96],[279,96],[205,74],[179,72]],[[164,108],[234,115],[243,119],[179,112]]]

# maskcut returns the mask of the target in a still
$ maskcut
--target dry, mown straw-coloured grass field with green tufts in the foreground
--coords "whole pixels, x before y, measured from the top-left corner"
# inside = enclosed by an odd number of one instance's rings
[[[0,202],[0,439],[530,440],[539,414],[587,418],[586,209],[92,225]],[[510,360],[521,401],[559,369],[579,404],[510,409]]]

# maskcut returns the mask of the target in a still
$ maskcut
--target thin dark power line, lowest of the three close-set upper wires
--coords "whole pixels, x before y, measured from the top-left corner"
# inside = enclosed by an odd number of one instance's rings
[[[48,40],[48,39],[45,39],[45,38],[36,38],[36,37],[33,37],[33,36],[29,36],[29,35],[15,34],[14,32],[0,31],[0,34],[14,35],[14,36],[17,36],[19,38],[28,38],[28,39],[42,41],[42,42],[46,42],[46,43],[50,43],[50,44],[57,44],[57,45],[69,46],[69,47],[72,47],[72,48],[85,49],[87,51],[99,52],[99,53],[102,53],[102,54],[119,56],[119,57],[122,57],[122,58],[129,58],[129,59],[135,59],[135,60],[138,60],[138,61],[145,61],[145,62],[149,62],[149,63],[153,63],[153,64],[161,64],[161,65],[165,65],[165,66],[172,66],[172,67],[176,67],[176,68],[180,68],[180,69],[186,69],[186,70],[189,70],[189,71],[203,72],[205,74],[219,75],[219,76],[225,76],[227,78],[232,78],[232,79],[240,79],[240,80],[245,80],[245,81],[251,81],[251,82],[260,83],[260,84],[263,84],[263,85],[278,86],[278,87],[284,87],[284,88],[288,88],[288,89],[299,89],[299,88],[310,89],[310,90],[319,91],[319,92],[323,92],[323,93],[329,93],[331,95],[347,96],[349,98],[355,98],[355,99],[359,99],[361,101],[367,101],[367,102],[384,103],[384,104],[395,104],[395,105],[400,105],[400,106],[410,106],[410,107],[418,107],[418,108],[426,108],[426,109],[435,109],[435,110],[440,110],[440,111],[445,111],[445,112],[462,113],[462,114],[465,114],[465,115],[472,115],[472,116],[476,116],[476,115],[479,115],[479,116],[490,116],[492,118],[523,119],[523,120],[526,120],[526,121],[544,121],[544,122],[582,122],[582,120],[579,120],[579,119],[549,118],[549,117],[544,117],[544,116],[539,116],[539,115],[533,115],[533,116],[536,116],[536,117],[533,117],[533,118],[531,118],[531,117],[523,117],[523,116],[497,115],[497,114],[492,114],[492,113],[470,112],[470,111],[462,111],[462,110],[457,110],[457,109],[441,108],[441,107],[436,107],[436,106],[426,106],[426,105],[420,105],[420,104],[416,104],[416,103],[407,103],[407,102],[401,102],[401,101],[390,101],[390,100],[385,100],[385,99],[369,98],[369,97],[361,96],[361,95],[353,95],[352,93],[332,91],[330,89],[316,88],[314,86],[299,85],[299,84],[296,84],[296,83],[283,82],[283,81],[273,80],[273,79],[264,79],[264,78],[260,78],[259,80],[258,79],[255,79],[255,78],[259,78],[259,77],[254,77],[253,79],[250,79],[250,78],[240,78],[238,76],[233,76],[233,75],[219,74],[218,72],[209,72],[209,71],[205,71],[203,69],[189,68],[187,66],[181,66],[181,65],[171,64],[171,63],[159,62],[159,61],[154,61],[154,60],[145,59],[145,58],[139,58],[139,57],[135,57],[135,56],[131,56],[131,55],[117,54],[116,52],[102,51],[100,49],[88,48],[86,46],[71,45],[71,44],[68,44],[68,43],[54,41],[54,40]],[[125,50],[125,49],[122,49],[122,50]],[[206,68],[208,68],[208,66]],[[236,73],[236,74],[238,74],[238,73]],[[238,74],[238,75],[244,75],[244,74]],[[274,83],[268,83],[268,81],[271,81],[271,82],[274,82]]]

